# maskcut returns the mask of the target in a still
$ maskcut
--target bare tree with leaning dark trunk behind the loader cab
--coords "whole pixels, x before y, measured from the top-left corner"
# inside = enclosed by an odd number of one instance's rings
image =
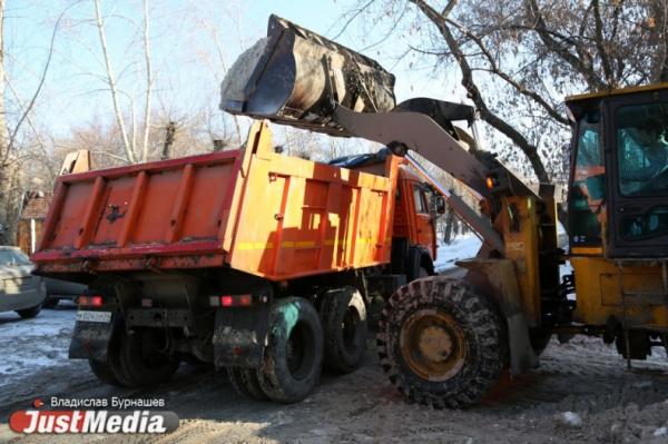
[[[563,96],[668,80],[666,0],[372,0],[363,7],[351,17],[395,18],[392,30],[410,45],[405,53],[456,67],[480,117],[510,141],[498,150],[529,165],[523,172],[540,181],[564,175]]]

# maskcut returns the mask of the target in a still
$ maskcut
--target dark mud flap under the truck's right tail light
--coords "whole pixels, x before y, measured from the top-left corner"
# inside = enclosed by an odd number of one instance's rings
[[[213,338],[216,368],[258,368],[267,345],[268,323],[268,304],[253,308],[219,308]]]

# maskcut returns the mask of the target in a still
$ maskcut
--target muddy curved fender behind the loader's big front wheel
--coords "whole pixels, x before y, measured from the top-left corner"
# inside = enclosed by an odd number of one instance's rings
[[[471,282],[481,293],[494,299],[505,318],[510,348],[510,373],[518,375],[538,365],[538,357],[529,339],[529,323],[522,309],[522,299],[514,265],[509,259],[472,258],[456,263],[469,270]]]

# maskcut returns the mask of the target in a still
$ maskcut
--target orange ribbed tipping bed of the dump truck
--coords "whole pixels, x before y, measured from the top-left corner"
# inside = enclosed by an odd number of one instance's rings
[[[386,175],[246,150],[59,178],[32,256],[45,275],[232,268],[281,280],[390,262],[399,158]]]

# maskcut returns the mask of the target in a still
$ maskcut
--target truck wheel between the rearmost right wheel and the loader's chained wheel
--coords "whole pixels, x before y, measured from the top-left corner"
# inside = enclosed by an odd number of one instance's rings
[[[321,316],[325,337],[325,367],[351,373],[362,365],[366,352],[366,307],[353,287],[324,295]]]

